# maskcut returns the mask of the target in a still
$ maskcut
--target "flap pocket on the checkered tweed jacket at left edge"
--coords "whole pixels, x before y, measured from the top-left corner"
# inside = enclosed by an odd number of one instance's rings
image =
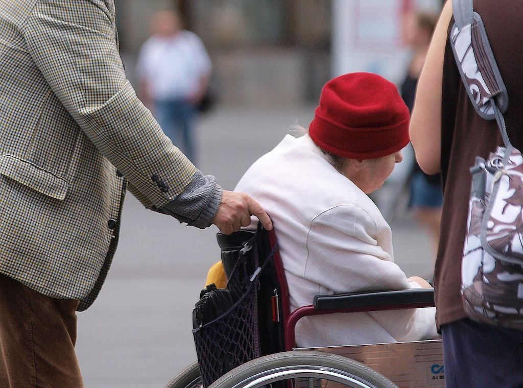
[[[55,199],[63,200],[69,188],[65,179],[9,154],[0,155],[0,174]]]

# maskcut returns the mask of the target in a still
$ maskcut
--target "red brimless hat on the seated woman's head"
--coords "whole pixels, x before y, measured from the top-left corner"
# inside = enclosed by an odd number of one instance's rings
[[[393,83],[377,74],[349,73],[323,87],[309,134],[334,155],[374,159],[408,144],[409,117]]]

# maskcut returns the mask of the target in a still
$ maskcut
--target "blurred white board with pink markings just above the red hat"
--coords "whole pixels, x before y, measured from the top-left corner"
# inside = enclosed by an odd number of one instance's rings
[[[367,71],[400,82],[409,58],[404,16],[418,9],[439,12],[441,2],[333,0],[332,75]]]

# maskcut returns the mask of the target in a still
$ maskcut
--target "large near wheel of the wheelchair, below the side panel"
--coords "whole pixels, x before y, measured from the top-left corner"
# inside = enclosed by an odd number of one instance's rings
[[[290,384],[283,384],[285,382]],[[246,362],[224,374],[209,388],[258,388],[269,384],[293,388],[398,388],[385,376],[362,363],[330,353],[306,350],[276,353]]]

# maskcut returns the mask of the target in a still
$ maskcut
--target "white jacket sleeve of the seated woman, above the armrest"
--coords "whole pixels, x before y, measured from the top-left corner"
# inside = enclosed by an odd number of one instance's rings
[[[410,288],[405,273],[381,247],[382,232],[360,207],[324,211],[310,225],[304,276],[335,293]],[[388,232],[381,238],[390,238]]]

